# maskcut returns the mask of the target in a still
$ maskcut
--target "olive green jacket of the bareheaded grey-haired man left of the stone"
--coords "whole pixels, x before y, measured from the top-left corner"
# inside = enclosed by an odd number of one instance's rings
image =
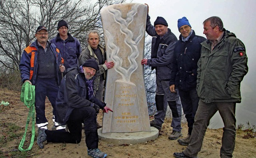
[[[98,45],[98,47],[102,52],[103,61],[106,61],[106,53],[104,51],[104,48],[101,45]],[[86,47],[86,49],[84,49],[84,51],[82,51],[82,53],[80,54],[80,57],[78,59],[79,65],[83,65],[83,63],[88,59],[95,59],[99,64],[98,58],[94,54],[94,51],[92,50],[92,47],[90,47],[90,45],[88,45],[88,47]],[[108,68],[105,64],[99,65],[99,70],[95,73],[94,86],[93,86],[94,94],[96,93],[96,91],[98,91],[98,88],[99,88],[100,75],[104,73],[104,79],[105,79],[106,78],[105,72],[107,69]]]

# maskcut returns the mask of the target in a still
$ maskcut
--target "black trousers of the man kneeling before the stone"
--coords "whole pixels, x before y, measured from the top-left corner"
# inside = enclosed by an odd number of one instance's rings
[[[98,148],[96,112],[93,107],[74,109],[67,121],[68,130],[46,130],[47,142],[80,143],[82,139],[82,122],[84,123],[87,148]]]

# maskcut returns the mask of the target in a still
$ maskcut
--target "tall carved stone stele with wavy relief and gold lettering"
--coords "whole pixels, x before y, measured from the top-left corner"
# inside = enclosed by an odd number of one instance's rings
[[[99,136],[109,132],[150,134],[144,69],[140,64],[144,58],[147,6],[114,4],[102,9],[100,15],[107,61],[115,65],[107,71],[105,93],[105,102],[114,112],[104,113]],[[158,130],[154,136],[157,138]]]

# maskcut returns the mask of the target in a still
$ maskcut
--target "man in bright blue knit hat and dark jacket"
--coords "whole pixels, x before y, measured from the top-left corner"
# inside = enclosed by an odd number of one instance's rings
[[[178,142],[181,145],[188,145],[199,102],[196,92],[196,70],[202,47],[200,43],[206,38],[196,36],[186,17],[178,20],[178,30],[180,37],[174,48],[170,91],[175,93],[175,88],[179,89],[182,109],[188,122],[188,136],[178,139]]]

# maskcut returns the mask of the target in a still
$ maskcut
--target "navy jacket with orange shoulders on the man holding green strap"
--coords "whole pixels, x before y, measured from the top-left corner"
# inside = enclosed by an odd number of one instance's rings
[[[31,43],[28,47],[26,47],[20,58],[19,68],[20,68],[22,83],[24,83],[24,81],[26,80],[30,80],[32,85],[36,83],[37,69],[38,69],[38,46],[36,43],[37,43],[37,40]],[[53,43],[48,42],[48,47],[54,53],[54,57],[56,59],[54,63],[54,68],[56,73],[55,75],[56,81],[59,83],[60,81],[59,65],[61,64],[62,58],[59,50],[56,48],[56,46]]]

